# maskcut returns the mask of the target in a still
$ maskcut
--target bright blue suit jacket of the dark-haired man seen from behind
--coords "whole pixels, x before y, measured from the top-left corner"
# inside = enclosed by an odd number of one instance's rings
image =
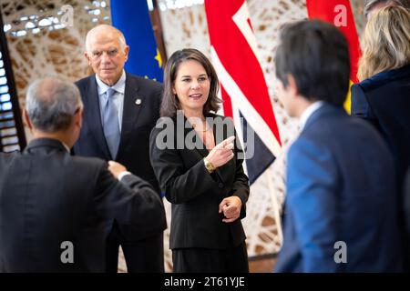
[[[276,272],[402,270],[393,160],[371,125],[323,105],[289,150],[286,186]]]

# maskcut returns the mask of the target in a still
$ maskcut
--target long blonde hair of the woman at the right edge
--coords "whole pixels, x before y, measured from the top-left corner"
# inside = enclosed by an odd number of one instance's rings
[[[360,81],[410,64],[410,10],[387,6],[370,16],[364,29]]]

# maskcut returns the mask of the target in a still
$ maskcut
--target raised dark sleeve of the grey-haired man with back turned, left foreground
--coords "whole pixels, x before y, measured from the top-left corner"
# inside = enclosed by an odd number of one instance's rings
[[[161,228],[165,221],[162,201],[152,186],[138,176],[124,176],[119,182],[101,166],[94,203],[97,212],[118,223],[136,226],[140,232]]]

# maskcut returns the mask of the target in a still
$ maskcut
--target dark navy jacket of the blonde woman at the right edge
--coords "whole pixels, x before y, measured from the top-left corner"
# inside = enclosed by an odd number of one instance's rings
[[[410,166],[410,65],[352,86],[352,115],[375,125],[395,158],[400,189]]]

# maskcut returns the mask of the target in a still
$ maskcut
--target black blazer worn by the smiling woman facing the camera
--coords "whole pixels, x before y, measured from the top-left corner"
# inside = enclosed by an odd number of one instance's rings
[[[215,145],[235,135],[230,118],[212,114],[206,117],[214,122]],[[169,135],[166,136],[166,133]],[[192,142],[184,143],[184,140]],[[161,141],[168,143],[167,148],[161,148]],[[241,218],[246,215],[249,182],[242,168],[241,146],[239,143],[234,144],[235,156],[231,161],[209,174],[203,163],[203,158],[209,152],[185,116],[179,113],[172,118],[161,118],[152,130],[151,165],[162,194],[172,204],[171,249],[222,249],[244,242],[246,236]],[[220,202],[228,196],[238,196],[242,202],[241,216],[232,223],[222,222],[224,216],[219,213]]]

